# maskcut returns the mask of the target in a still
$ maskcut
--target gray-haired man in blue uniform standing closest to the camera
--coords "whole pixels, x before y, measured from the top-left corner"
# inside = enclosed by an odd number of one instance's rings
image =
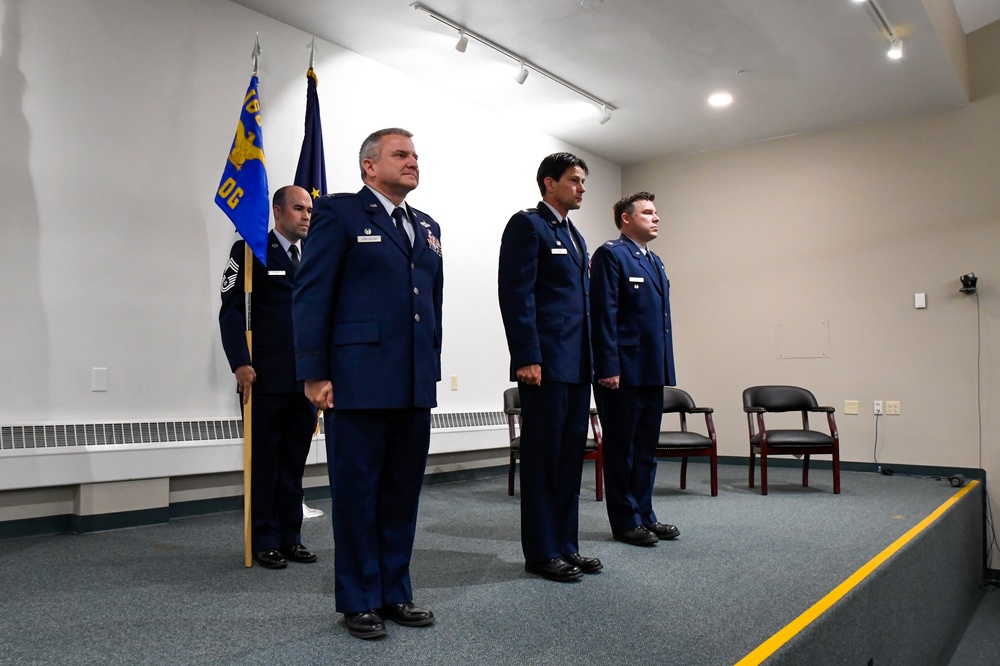
[[[357,194],[316,200],[295,281],[298,377],[326,410],[337,611],[358,638],[422,626],[410,557],[441,379],[441,230],[405,202],[417,187],[406,130],[361,146]]]

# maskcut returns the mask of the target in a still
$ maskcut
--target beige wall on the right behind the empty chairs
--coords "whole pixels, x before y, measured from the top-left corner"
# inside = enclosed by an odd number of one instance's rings
[[[837,407],[845,460],[873,460],[872,401],[900,400],[881,462],[1000,476],[1000,23],[968,45],[961,108],[624,169],[657,194],[677,378],[716,409],[721,454],[747,455],[744,388],[796,384]],[[775,326],[810,320],[829,357],[778,358]]]

